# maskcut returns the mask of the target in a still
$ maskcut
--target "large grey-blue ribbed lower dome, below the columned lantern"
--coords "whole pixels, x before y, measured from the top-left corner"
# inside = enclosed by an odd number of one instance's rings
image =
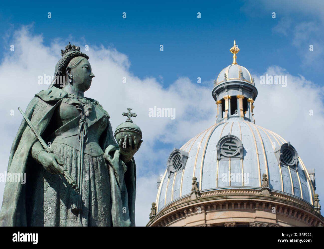
[[[241,158],[219,160],[217,146],[224,137],[236,137],[243,145]],[[303,161],[297,155],[296,168],[278,163],[277,151],[287,141],[281,136],[249,121],[231,118],[229,122],[212,125],[185,143],[180,151],[186,154],[184,168],[165,172],[159,186],[157,210],[191,194],[192,178],[196,177],[199,190],[219,188],[261,187],[262,175],[266,174],[270,189],[299,197],[313,203],[314,193]],[[290,144],[289,144],[290,145]],[[228,147],[230,148],[230,147]],[[286,160],[293,160],[288,153]],[[180,169],[180,170],[179,170]],[[243,173],[243,179],[233,181],[224,175]],[[226,179],[226,178],[225,178]]]

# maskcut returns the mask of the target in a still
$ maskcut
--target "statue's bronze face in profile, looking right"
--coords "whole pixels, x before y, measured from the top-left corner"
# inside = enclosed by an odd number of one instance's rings
[[[91,80],[95,77],[91,71],[91,65],[86,58],[71,69],[71,74],[73,76],[73,84],[77,84],[77,88],[83,92],[90,88]]]

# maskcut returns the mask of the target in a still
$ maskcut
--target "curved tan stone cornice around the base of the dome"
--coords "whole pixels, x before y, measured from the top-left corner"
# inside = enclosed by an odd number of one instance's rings
[[[196,200],[191,200],[189,195],[183,196],[160,210],[147,226],[169,225],[176,220],[196,214],[197,207],[202,208],[201,212],[225,211],[237,207],[240,211],[251,209],[271,211],[271,207],[276,207],[278,213],[299,219],[305,225],[317,226],[324,223],[324,217],[315,212],[306,201],[275,190],[271,193],[272,196],[262,196],[260,188],[243,187],[202,191],[201,197]]]

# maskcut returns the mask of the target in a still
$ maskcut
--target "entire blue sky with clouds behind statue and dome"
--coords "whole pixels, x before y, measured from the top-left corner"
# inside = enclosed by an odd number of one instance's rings
[[[290,141],[306,167],[316,169],[321,200],[323,13],[324,2],[315,0],[296,0],[293,5],[279,0],[4,2],[0,77],[8,84],[0,95],[0,113],[6,120],[0,129],[0,172],[6,170],[21,122],[20,113],[10,116],[10,110],[18,106],[24,110],[35,93],[46,89],[37,78],[53,73],[60,49],[69,41],[83,52],[88,44],[86,53],[96,77],[85,96],[98,100],[109,112],[113,130],[125,121],[121,112],[128,107],[138,114],[134,123],[143,130],[144,142],[135,155],[136,222],[145,225],[156,198],[156,179],[164,173],[170,152],[215,122],[213,82],[231,64],[229,49],[236,40],[237,63],[255,77],[259,91],[254,103],[256,124]],[[265,73],[287,75],[287,87],[260,85]],[[127,84],[121,84],[122,77],[127,77]],[[202,84],[197,84],[197,77]],[[176,118],[148,117],[148,108],[154,106],[176,108]],[[3,188],[0,183],[0,204]]]

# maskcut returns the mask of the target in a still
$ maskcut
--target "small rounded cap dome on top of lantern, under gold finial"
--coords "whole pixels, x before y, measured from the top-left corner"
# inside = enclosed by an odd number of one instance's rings
[[[243,78],[241,79],[241,73]],[[238,64],[234,65],[228,65],[225,67],[220,74],[217,77],[216,84],[225,82],[224,81],[224,75],[226,75],[226,82],[227,81],[237,81],[237,80],[243,80],[246,82],[252,83],[252,77],[248,69],[246,69],[244,66],[240,66]]]

